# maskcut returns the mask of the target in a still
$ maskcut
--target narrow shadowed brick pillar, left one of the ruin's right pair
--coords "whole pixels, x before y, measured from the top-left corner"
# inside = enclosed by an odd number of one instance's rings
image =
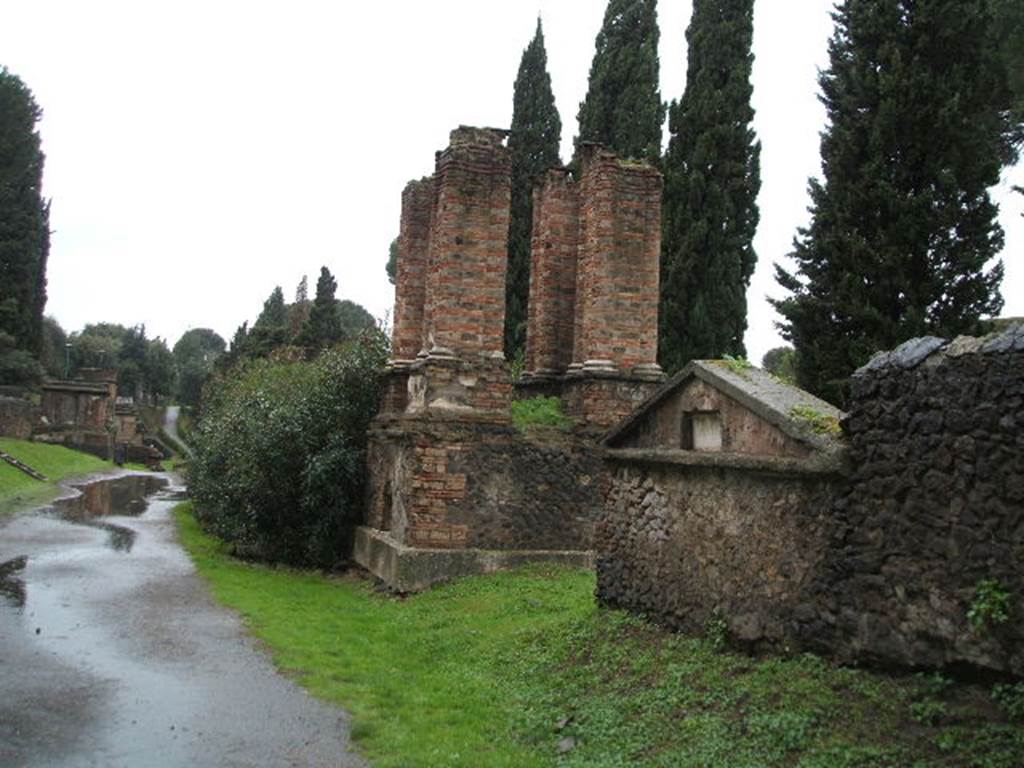
[[[526,319],[530,375],[557,376],[572,361],[579,241],[579,185],[566,169],[552,169],[534,190]]]

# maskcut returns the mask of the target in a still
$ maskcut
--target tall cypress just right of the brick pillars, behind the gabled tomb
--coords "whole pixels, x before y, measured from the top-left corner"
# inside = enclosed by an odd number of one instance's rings
[[[754,0],[695,0],[682,100],[669,109],[658,358],[745,354],[761,145],[751,124]]]

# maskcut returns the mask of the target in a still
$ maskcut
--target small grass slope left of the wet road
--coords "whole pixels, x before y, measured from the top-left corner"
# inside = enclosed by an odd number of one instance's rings
[[[14,467],[0,462],[0,513],[19,506],[43,503],[57,493],[55,482],[73,475],[110,469],[113,465],[89,454],[62,445],[0,438],[0,449],[46,475],[40,482]]]

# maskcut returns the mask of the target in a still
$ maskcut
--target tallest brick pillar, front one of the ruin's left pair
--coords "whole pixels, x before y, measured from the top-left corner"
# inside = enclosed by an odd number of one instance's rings
[[[437,156],[425,347],[504,358],[510,161],[505,132],[461,127]]]

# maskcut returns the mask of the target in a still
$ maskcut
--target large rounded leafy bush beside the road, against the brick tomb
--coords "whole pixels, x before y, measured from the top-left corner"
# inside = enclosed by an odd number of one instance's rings
[[[383,334],[312,362],[246,359],[208,385],[188,484],[201,521],[244,554],[335,567],[361,518]]]

